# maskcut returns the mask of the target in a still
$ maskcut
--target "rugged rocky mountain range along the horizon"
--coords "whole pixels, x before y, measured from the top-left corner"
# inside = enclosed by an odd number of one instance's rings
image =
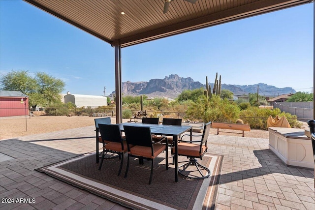
[[[213,87],[213,83],[209,83]],[[276,88],[264,83],[254,85],[227,85],[221,84],[221,90],[230,90],[237,95],[246,95],[249,93],[257,93],[264,96],[278,96],[282,94],[295,93],[296,91],[290,87]],[[184,90],[194,90],[206,88],[206,85],[200,82],[194,82],[190,77],[183,78],[177,74],[171,74],[164,79],[151,79],[149,82],[123,82],[122,92],[125,95],[147,95],[149,97],[169,97],[176,98]],[[115,92],[112,92],[112,94]],[[111,94],[111,95],[112,95]]]

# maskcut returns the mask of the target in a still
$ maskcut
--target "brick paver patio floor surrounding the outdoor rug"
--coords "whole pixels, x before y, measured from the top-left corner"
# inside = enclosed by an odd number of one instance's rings
[[[0,153],[13,159],[0,159],[0,209],[126,209],[34,170],[95,151],[94,129],[89,126],[1,140]],[[314,171],[285,166],[268,150],[268,139],[209,135],[208,146],[210,153],[224,155],[217,209],[315,209]],[[2,203],[3,198],[29,200]]]

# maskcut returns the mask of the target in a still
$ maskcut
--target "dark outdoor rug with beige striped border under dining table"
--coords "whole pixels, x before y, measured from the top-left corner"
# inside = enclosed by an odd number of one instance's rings
[[[139,165],[138,159],[130,157],[128,175],[124,178],[127,155],[119,177],[119,158],[105,159],[99,171],[95,153],[46,166],[38,171],[131,209],[214,209],[223,156],[206,154],[202,161],[198,159],[198,162],[210,169],[209,178],[189,180],[179,175],[178,182],[175,182],[172,158],[169,157],[169,169],[166,170],[164,155],[161,153],[155,159],[151,185],[148,184],[151,161],[144,160],[144,165]],[[179,165],[187,160],[186,157],[179,156]]]

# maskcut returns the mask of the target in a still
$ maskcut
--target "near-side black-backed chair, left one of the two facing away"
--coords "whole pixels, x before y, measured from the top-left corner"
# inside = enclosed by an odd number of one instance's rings
[[[98,170],[101,170],[105,154],[107,152],[111,152],[114,154],[118,154],[121,159],[121,164],[118,172],[118,176],[120,175],[124,162],[124,153],[127,151],[126,141],[123,140],[122,134],[117,124],[98,124],[100,137],[102,139],[103,151],[102,151],[102,159],[99,164]],[[106,142],[106,143],[105,143]],[[132,146],[130,146],[132,147]]]

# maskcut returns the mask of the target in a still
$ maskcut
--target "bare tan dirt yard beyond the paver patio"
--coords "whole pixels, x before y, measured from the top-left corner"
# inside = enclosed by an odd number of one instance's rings
[[[38,133],[48,133],[52,131],[66,130],[71,128],[86,127],[95,125],[95,117],[86,116],[39,116],[39,117],[5,117],[0,118],[0,140],[28,136]],[[125,120],[124,120],[125,121]],[[116,119],[112,118],[112,123]],[[242,136],[242,131],[222,130],[219,135]],[[217,129],[211,128],[211,134],[217,134]],[[269,138],[266,130],[245,131],[245,137]]]

